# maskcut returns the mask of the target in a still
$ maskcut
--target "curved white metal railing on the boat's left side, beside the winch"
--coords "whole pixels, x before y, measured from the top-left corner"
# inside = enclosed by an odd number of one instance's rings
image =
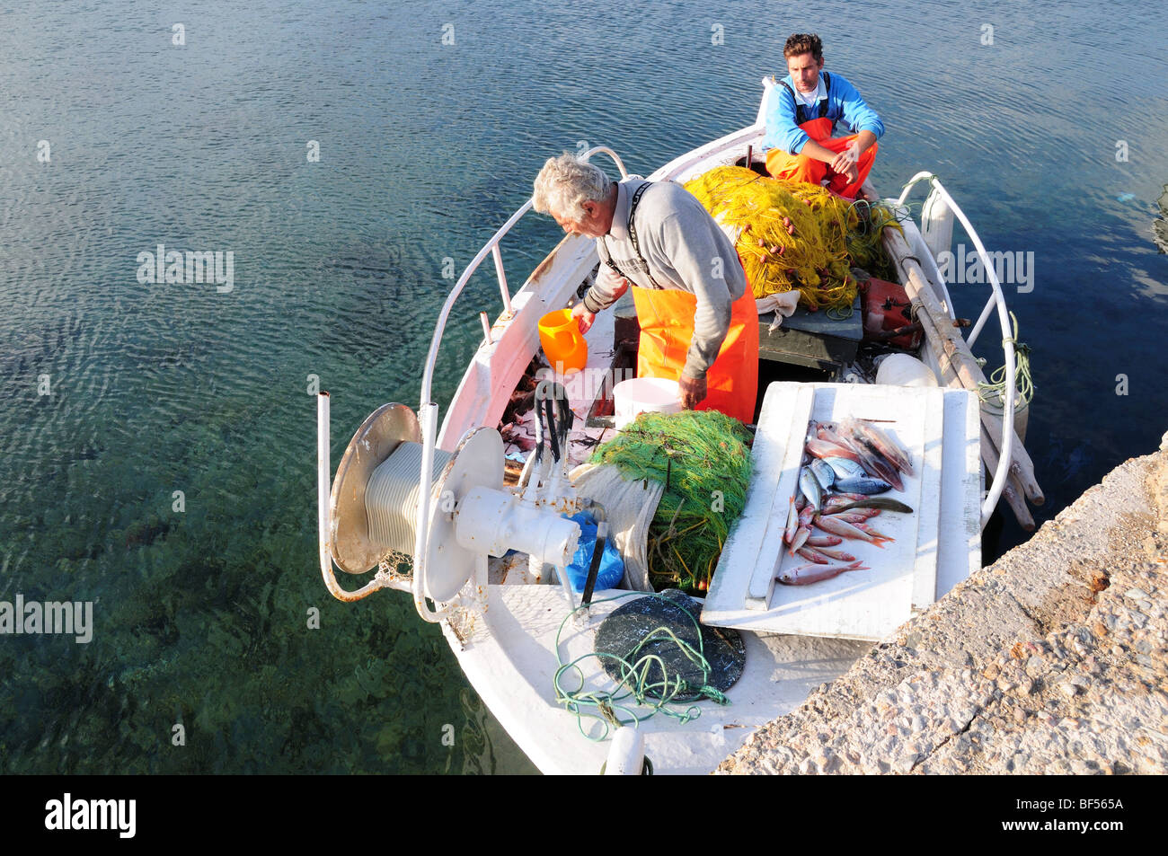
[[[621,161],[620,156],[607,146],[593,146],[584,152],[584,154],[580,155],[580,159],[589,160],[595,154],[606,154],[612,158],[617,168],[620,170],[620,178],[628,178],[628,170],[625,169],[624,161]],[[529,210],[531,210],[530,199],[507,218],[507,222],[499,228],[491,239],[484,244],[482,249],[474,255],[471,263],[466,265],[463,270],[463,276],[458,278],[454,283],[454,287],[451,288],[450,294],[446,295],[446,301],[443,304],[442,312],[438,313],[438,323],[434,326],[433,336],[430,339],[430,350],[426,354],[426,364],[422,374],[422,401],[418,408],[418,422],[422,429],[422,468],[418,478],[419,485],[423,486],[423,489],[418,492],[418,516],[417,533],[415,534],[413,542],[412,585],[413,605],[417,607],[418,614],[426,621],[439,621],[444,614],[442,610],[431,610],[426,604],[425,596],[425,555],[430,538],[427,521],[430,520],[431,499],[430,490],[425,489],[425,486],[430,483],[431,473],[433,472],[434,448],[437,446],[438,436],[438,403],[432,401],[433,373],[434,366],[438,361],[438,348],[442,346],[442,337],[446,330],[446,322],[450,319],[450,313],[454,306],[454,301],[458,300],[471,277],[487,257],[487,253],[491,253],[494,257],[495,276],[499,279],[499,291],[503,301],[503,316],[507,320],[510,320],[514,311],[512,309],[512,295],[507,287],[507,273],[503,270],[503,257],[499,249],[499,242],[502,241],[502,237],[509,232]]]

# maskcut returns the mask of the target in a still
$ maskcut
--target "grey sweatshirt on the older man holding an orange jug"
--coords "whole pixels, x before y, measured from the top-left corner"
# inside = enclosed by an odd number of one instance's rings
[[[730,304],[746,291],[746,274],[730,238],[681,185],[627,179],[617,186],[612,227],[596,242],[600,272],[584,295],[584,307],[599,312],[617,301],[621,278],[604,264],[610,259],[633,285],[656,287],[638,260],[628,237],[628,208],[642,183],[648,183],[649,188],[641,194],[637,206],[637,239],[641,256],[658,286],[686,291],[697,298],[694,339],[681,374],[704,377],[730,329]]]

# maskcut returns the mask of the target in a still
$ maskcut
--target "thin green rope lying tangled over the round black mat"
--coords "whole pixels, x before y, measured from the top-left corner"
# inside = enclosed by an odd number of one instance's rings
[[[593,600],[592,604],[603,604],[610,600],[620,600],[623,598],[634,596],[659,598],[676,606],[676,604],[673,600],[669,600],[669,598],[648,592],[628,592],[626,594],[605,598],[604,600]],[[559,653],[561,636],[563,635],[564,626],[568,624],[568,620],[572,618],[572,615],[580,610],[589,607],[576,607],[564,617],[563,621],[559,622],[559,629],[556,631],[557,668],[554,683],[556,688],[556,701],[563,704],[568,712],[576,716],[576,725],[580,733],[588,739],[593,742],[605,740],[609,738],[609,733],[613,728],[624,725],[632,725],[633,728],[637,728],[640,723],[645,722],[654,714],[663,714],[665,716],[677,719],[680,723],[690,722],[702,715],[701,708],[698,708],[696,703],[683,701],[675,702],[674,700],[679,695],[698,693],[703,697],[709,698],[717,704],[730,703],[730,700],[726,698],[723,693],[705,682],[709,680],[711,667],[709,660],[705,659],[704,643],[702,642],[702,629],[688,611],[686,611],[686,614],[689,620],[693,621],[694,628],[697,632],[696,648],[684,640],[679,639],[677,635],[668,627],[656,627],[647,633],[637,647],[626,652],[625,655],[598,650],[591,654],[584,654],[576,657],[571,662],[565,663]],[[637,654],[646,645],[660,639],[672,640],[682,654],[686,655],[687,660],[701,668],[703,676],[703,683],[701,686],[689,683],[681,677],[681,675],[674,675],[670,678],[669,673],[665,668],[665,662],[656,654],[644,654],[640,657],[637,657]],[[620,680],[616,690],[609,691],[584,689],[585,676],[584,670],[579,667],[579,663],[593,656],[597,657],[597,660],[607,657],[619,663]],[[649,675],[652,674],[654,667],[661,670],[661,678],[656,681],[649,680]],[[561,682],[563,676],[569,673],[575,673],[576,675],[578,686],[575,688],[565,688]],[[651,697],[651,694],[655,697]],[[687,704],[688,707],[683,710],[679,710],[676,705],[681,704]],[[648,708],[649,710],[647,714],[639,714],[635,708]],[[589,712],[590,710],[597,711],[598,715]],[[623,719],[617,715],[617,711],[624,714],[626,718]],[[604,731],[598,737],[589,736],[588,731],[584,729],[585,719],[592,719],[602,723],[604,725]]]

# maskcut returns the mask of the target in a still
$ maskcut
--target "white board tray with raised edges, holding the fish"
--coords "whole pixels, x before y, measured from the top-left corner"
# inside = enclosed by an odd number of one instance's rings
[[[912,514],[869,521],[895,541],[844,540],[836,549],[868,570],[811,585],[776,582],[806,564],[783,542],[799,492],[808,420],[869,419],[905,448],[915,475],[882,496]],[[772,383],[752,450],[746,508],[718,561],[702,621],[771,633],[877,640],[980,566],[978,399],[965,390],[839,383]],[[819,533],[819,530],[815,530]],[[839,564],[839,563],[836,563]]]

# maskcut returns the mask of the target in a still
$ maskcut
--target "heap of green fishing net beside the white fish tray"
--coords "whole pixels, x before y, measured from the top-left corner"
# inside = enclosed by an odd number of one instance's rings
[[[641,413],[592,454],[630,480],[665,487],[646,555],[656,591],[704,592],[731,524],[746,506],[750,432],[714,410]]]

